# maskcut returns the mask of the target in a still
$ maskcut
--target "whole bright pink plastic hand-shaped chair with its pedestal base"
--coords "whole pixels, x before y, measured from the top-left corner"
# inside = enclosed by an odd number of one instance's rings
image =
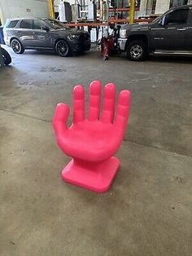
[[[53,119],[59,147],[73,158],[62,171],[63,180],[94,192],[106,192],[120,166],[113,156],[124,137],[130,92],[120,92],[115,118],[116,86],[105,86],[101,116],[100,99],[101,83],[94,81],[89,86],[89,111],[85,118],[85,90],[75,86],[72,126],[67,126],[70,110],[66,104],[57,105]]]

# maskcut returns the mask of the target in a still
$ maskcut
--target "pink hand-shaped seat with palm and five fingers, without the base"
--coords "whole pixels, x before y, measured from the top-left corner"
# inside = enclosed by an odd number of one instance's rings
[[[57,105],[53,126],[59,146],[68,156],[85,161],[104,161],[120,147],[129,117],[130,92],[120,92],[115,118],[114,84],[107,84],[104,88],[103,113],[99,119],[100,101],[101,84],[95,81],[89,87],[89,113],[85,119],[85,90],[83,86],[76,86],[73,90],[73,121],[69,128],[68,105]]]

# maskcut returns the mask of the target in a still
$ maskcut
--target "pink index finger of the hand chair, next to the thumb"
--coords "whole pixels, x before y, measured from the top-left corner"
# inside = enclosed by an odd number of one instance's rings
[[[83,86],[73,89],[73,122],[85,120],[85,90]]]

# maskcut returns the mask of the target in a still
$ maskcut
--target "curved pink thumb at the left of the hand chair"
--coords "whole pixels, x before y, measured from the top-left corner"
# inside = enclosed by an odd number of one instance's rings
[[[68,129],[67,121],[70,113],[70,109],[66,104],[57,104],[55,108],[55,114],[53,117],[53,127],[57,139],[61,137],[65,130]]]

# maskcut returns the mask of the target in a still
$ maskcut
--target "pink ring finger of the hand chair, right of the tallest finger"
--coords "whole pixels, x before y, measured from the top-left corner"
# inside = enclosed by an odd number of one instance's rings
[[[116,106],[116,86],[108,83],[104,89],[102,121],[111,123],[113,121]]]

